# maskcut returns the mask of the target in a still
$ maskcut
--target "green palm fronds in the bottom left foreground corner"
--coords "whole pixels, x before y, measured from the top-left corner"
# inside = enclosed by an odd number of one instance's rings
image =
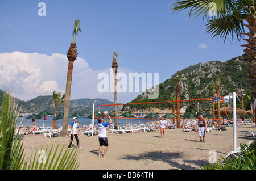
[[[39,154],[40,150],[38,151],[38,149],[25,153],[19,129],[15,136],[18,120],[15,115],[19,114],[17,105],[17,101],[13,99],[10,92],[6,94],[5,91],[3,93],[2,107],[0,108],[0,170],[77,169],[79,166],[77,163],[77,149],[64,149],[64,144],[61,149],[58,149],[59,144],[56,149],[53,149],[52,144],[49,151],[47,150],[47,145],[44,150],[47,158],[44,161],[41,159],[43,155]]]

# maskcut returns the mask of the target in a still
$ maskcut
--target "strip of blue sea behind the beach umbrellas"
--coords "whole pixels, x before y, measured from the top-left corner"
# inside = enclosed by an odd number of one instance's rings
[[[16,128],[19,128],[19,125],[24,125],[24,127],[32,127],[32,120],[31,119],[26,119],[26,117],[28,116],[24,116],[24,117],[19,117],[17,124],[16,124]],[[43,117],[41,119],[36,119],[35,120],[35,124],[37,127],[52,127],[53,125],[53,117],[54,116],[46,116],[46,120],[43,120]],[[78,117],[78,123],[79,123],[79,127],[82,128],[82,125],[86,124],[92,124],[92,119],[86,118],[86,117]],[[123,125],[126,123],[127,124],[139,124],[140,123],[147,123],[150,120],[147,119],[117,119],[118,120],[118,125]],[[109,122],[109,119],[104,118],[104,121]],[[69,117],[68,119],[68,125],[71,125],[71,123],[73,122],[73,117]],[[114,123],[114,119],[112,119],[112,122]],[[21,123],[21,124],[20,124]],[[94,119],[94,123],[98,123],[97,119]],[[62,127],[63,124],[63,119],[59,119],[57,120],[57,128],[58,127]]]

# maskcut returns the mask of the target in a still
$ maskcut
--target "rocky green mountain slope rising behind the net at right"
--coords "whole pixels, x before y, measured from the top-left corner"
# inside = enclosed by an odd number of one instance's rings
[[[226,62],[214,60],[206,63],[195,64],[180,70],[180,73],[180,100],[212,98],[211,84],[214,82],[216,85],[217,76],[221,80],[220,96],[229,95],[230,92],[240,93],[241,89],[246,92],[246,95],[250,96],[247,64],[240,61],[239,57],[232,58]],[[142,92],[141,95],[138,95],[137,98],[132,100],[130,103],[162,102],[172,100],[172,96],[175,95],[177,76],[178,72],[172,75],[170,79],[159,84],[158,98],[148,99],[148,95],[154,93],[154,89],[149,89]],[[247,102],[249,102],[249,100],[247,100]],[[123,107],[123,110],[125,110],[125,108],[137,108],[137,110],[139,109],[140,111],[147,111],[150,107],[163,109],[171,108],[171,106],[172,103],[134,104],[133,106]],[[181,102],[181,108],[183,108],[183,111],[187,110],[187,112],[189,112],[189,106],[191,107],[190,109],[195,108],[195,102]],[[207,100],[201,101],[200,106],[203,108],[210,108],[211,105],[209,100]]]

